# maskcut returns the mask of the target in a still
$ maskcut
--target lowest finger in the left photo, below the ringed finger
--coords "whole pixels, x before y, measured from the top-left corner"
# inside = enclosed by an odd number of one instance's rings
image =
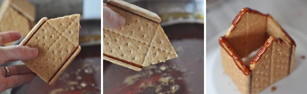
[[[25,84],[34,78],[33,73],[23,74],[23,75],[13,75],[5,78],[4,90],[17,87],[19,85]]]

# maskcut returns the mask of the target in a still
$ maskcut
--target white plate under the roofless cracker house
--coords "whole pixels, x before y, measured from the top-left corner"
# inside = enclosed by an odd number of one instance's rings
[[[307,93],[307,59],[301,58],[302,55],[307,56],[307,34],[289,26],[283,26],[283,28],[297,45],[295,69],[289,76],[272,84],[260,93]],[[223,34],[219,34],[207,43],[207,93],[241,93],[230,77],[223,73],[218,44],[220,36],[223,36]],[[274,92],[271,91],[272,86],[277,88]]]

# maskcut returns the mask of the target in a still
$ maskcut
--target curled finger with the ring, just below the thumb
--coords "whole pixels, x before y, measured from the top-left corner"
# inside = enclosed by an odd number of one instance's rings
[[[9,69],[9,76],[32,73],[32,71],[26,65],[8,66],[8,69]]]

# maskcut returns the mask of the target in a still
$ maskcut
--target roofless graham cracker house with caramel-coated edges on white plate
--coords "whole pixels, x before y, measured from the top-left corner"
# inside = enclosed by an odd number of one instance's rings
[[[224,72],[241,93],[259,93],[293,71],[296,44],[269,14],[243,8],[219,44]]]

